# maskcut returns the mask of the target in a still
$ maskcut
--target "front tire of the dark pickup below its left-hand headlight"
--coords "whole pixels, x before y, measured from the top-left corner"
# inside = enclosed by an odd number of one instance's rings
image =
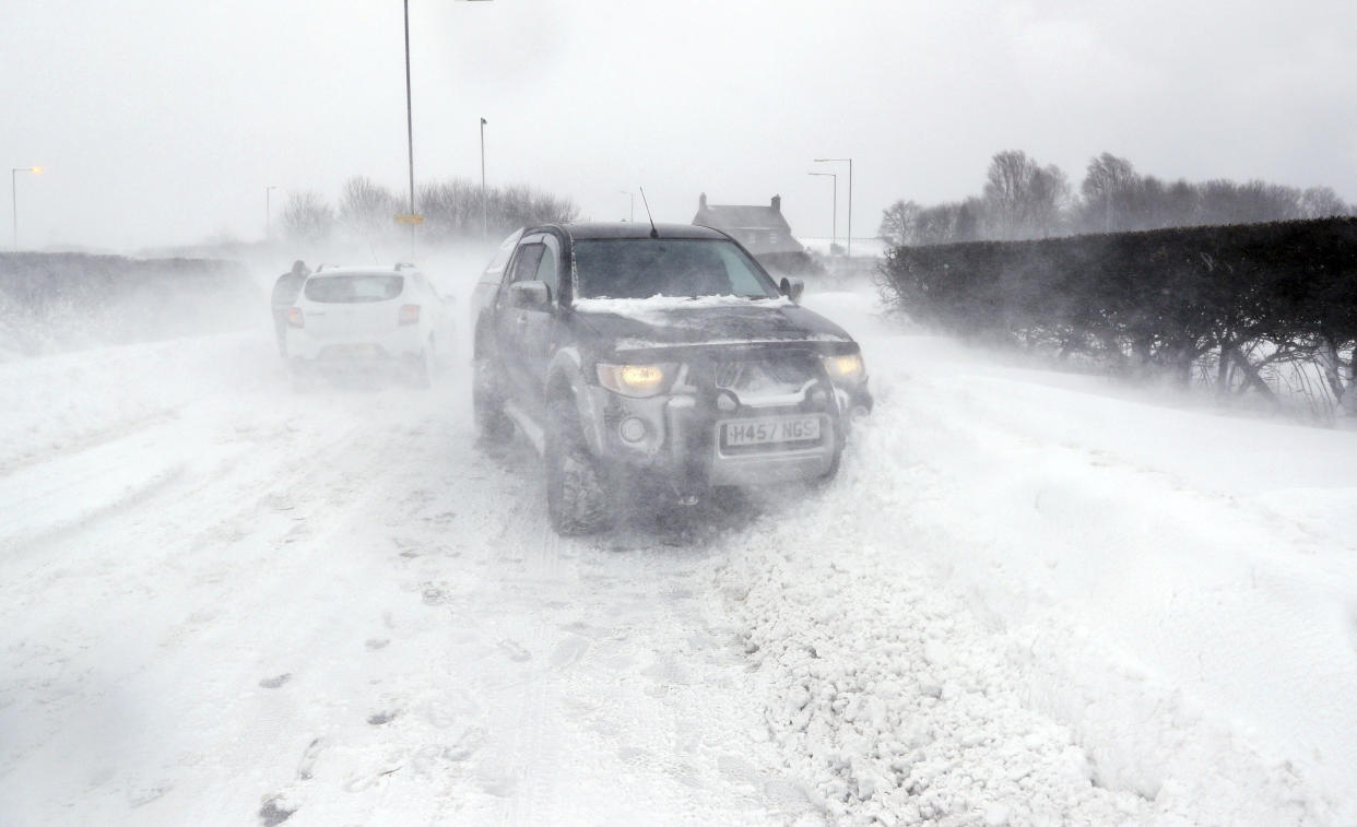
[[[547,517],[563,537],[596,534],[612,525],[608,485],[585,445],[574,404],[547,407]]]

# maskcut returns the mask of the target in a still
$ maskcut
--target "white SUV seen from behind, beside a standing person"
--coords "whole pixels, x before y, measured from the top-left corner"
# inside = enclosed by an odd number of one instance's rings
[[[452,344],[442,298],[413,264],[327,267],[288,308],[293,376],[328,369],[399,369],[427,385]]]

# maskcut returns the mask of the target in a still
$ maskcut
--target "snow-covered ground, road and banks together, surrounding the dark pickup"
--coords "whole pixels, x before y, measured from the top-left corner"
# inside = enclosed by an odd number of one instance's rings
[[[868,296],[830,487],[586,540],[463,366],[0,365],[0,824],[1357,824],[1357,434]]]

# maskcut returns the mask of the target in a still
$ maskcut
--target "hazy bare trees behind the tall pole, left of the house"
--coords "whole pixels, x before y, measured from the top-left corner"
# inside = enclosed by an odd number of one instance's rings
[[[497,240],[520,226],[571,221],[579,214],[569,198],[528,186],[486,187],[482,201],[479,184],[455,178],[415,190],[415,211],[425,217],[421,237],[436,243],[480,239],[482,203],[490,237]],[[290,193],[282,207],[281,226],[293,241],[316,243],[334,235],[377,240],[408,232],[395,222],[395,216],[406,211],[406,195],[360,175],[343,183],[337,203],[315,191]]]

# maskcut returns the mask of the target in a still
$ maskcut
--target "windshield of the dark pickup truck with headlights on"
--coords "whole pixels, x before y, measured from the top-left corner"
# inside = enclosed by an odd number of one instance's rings
[[[574,256],[578,298],[779,296],[772,279],[730,241],[593,239],[575,241]]]

